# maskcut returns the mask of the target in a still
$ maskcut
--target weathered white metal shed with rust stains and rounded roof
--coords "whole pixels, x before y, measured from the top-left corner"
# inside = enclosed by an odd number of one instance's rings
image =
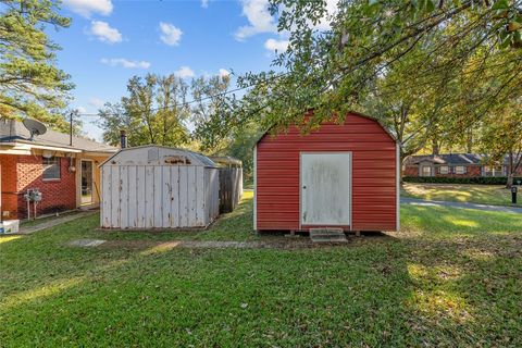
[[[103,228],[204,227],[219,215],[217,167],[200,153],[141,146],[100,166]]]

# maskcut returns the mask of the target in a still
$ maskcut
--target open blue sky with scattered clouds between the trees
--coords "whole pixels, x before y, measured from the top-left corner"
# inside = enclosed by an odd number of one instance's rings
[[[58,65],[76,85],[73,108],[96,113],[126,94],[134,75],[187,78],[266,70],[284,50],[266,0],[63,0],[72,26],[49,30],[62,47]],[[101,130],[84,116],[88,136]]]

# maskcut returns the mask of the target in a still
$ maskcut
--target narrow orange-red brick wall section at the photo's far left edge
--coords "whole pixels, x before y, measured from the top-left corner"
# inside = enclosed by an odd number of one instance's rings
[[[2,176],[2,214],[4,219],[15,219],[17,215],[16,163],[18,157],[0,154]],[[3,213],[5,212],[5,213]]]

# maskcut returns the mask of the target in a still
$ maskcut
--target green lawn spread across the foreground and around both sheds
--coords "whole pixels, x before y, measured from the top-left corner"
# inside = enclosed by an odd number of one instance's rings
[[[0,346],[522,346],[522,219],[401,212],[400,233],[291,250],[150,245],[264,240],[251,196],[208,232],[107,233],[89,216],[2,237]],[[66,246],[87,237],[122,245]]]

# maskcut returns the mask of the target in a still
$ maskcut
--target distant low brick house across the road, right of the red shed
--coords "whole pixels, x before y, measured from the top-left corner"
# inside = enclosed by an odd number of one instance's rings
[[[485,156],[477,153],[410,156],[402,167],[405,176],[490,177],[507,176],[508,172],[509,156],[492,165]],[[522,175],[522,166],[517,173]]]

